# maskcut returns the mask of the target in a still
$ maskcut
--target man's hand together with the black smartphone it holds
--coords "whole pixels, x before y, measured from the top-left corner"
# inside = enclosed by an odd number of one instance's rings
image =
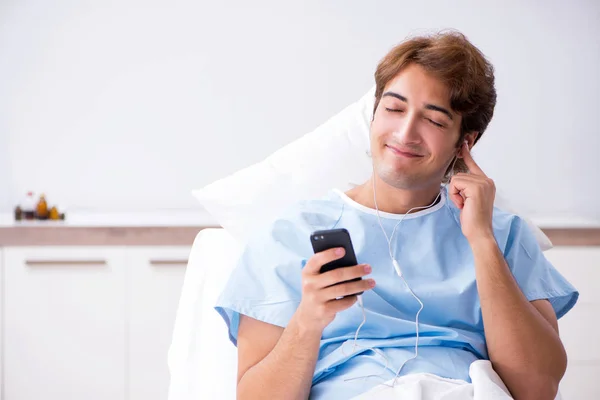
[[[357,265],[347,230],[318,231],[311,235],[311,242],[315,255],[302,270],[297,313],[309,326],[323,330],[338,312],[356,302],[358,294],[375,287],[375,281],[362,279],[371,267]]]

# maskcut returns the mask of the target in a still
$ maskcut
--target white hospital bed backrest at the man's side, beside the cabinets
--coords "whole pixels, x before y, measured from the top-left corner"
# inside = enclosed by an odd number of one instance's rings
[[[169,400],[236,398],[236,348],[213,306],[240,251],[224,229],[204,229],[194,241],[168,354]]]

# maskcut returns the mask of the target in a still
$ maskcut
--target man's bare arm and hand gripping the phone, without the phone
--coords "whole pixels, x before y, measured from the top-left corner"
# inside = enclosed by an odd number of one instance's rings
[[[302,270],[302,300],[285,329],[250,317],[240,318],[239,400],[308,398],[323,329],[338,312],[356,302],[354,293],[374,286],[369,279],[341,283],[370,273],[365,265],[319,272],[322,265],[342,256],[343,252],[336,254],[332,249],[308,261]]]

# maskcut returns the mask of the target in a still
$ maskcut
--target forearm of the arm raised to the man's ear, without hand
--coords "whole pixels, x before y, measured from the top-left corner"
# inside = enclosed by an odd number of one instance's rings
[[[558,333],[521,292],[493,236],[471,248],[495,371],[518,400],[550,398],[566,368]]]

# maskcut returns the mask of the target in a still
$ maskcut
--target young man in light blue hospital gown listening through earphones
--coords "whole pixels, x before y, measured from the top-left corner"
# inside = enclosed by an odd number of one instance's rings
[[[445,33],[392,49],[375,80],[372,177],[257,235],[217,303],[238,346],[238,398],[347,399],[401,367],[469,381],[489,359],[516,399],[554,399],[557,318],[578,293],[524,221],[494,208],[471,157],[496,103],[492,66]],[[343,253],[313,254],[309,235],[332,228],[350,232],[360,265],[321,274]]]

